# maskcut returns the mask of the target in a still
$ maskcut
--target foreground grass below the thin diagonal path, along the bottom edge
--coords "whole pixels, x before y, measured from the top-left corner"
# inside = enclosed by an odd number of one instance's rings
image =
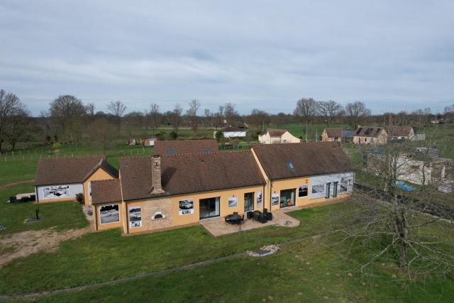
[[[452,302],[453,280],[429,276],[402,287],[397,267],[380,264],[363,277],[358,253],[343,255],[309,238],[265,258],[221,260],[36,302]]]

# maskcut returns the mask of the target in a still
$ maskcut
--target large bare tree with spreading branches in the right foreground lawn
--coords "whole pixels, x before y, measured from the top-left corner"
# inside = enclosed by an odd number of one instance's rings
[[[454,270],[454,256],[445,241],[454,236],[446,219],[452,222],[454,217],[450,208],[436,204],[436,186],[421,187],[414,196],[397,187],[399,180],[414,173],[411,161],[419,157],[415,147],[412,142],[388,141],[362,150],[377,181],[355,192],[358,207],[343,214],[349,224],[336,228],[336,234],[340,243],[348,243],[346,253],[361,250],[366,255],[358,260],[363,273],[379,263],[397,264],[410,279]]]

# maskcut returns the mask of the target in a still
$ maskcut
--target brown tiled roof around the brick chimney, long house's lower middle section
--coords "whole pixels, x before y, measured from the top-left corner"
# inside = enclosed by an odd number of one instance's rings
[[[152,158],[120,159],[123,199],[209,192],[265,184],[252,153],[186,154],[161,157],[162,194],[152,190]]]

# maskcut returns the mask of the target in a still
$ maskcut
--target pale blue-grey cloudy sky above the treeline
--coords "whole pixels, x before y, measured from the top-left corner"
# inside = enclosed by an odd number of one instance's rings
[[[32,114],[62,94],[291,113],[303,97],[372,114],[454,103],[454,1],[0,0],[0,89]]]

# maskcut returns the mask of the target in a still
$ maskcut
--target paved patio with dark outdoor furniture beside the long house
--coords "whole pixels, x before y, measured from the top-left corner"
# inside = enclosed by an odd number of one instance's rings
[[[297,227],[299,226],[299,221],[294,219],[292,216],[285,214],[287,211],[292,211],[297,209],[296,207],[289,207],[287,209],[279,209],[277,211],[272,211],[272,221],[267,221],[267,223],[262,224],[259,221],[253,219],[246,219],[244,217],[244,222],[241,225],[226,224],[224,217],[216,217],[212,219],[201,220],[200,224],[206,228],[209,233],[213,236],[224,236],[229,233],[238,233],[238,229],[241,227],[242,231],[249,231],[254,228],[261,228],[265,226],[285,226],[285,227]]]

